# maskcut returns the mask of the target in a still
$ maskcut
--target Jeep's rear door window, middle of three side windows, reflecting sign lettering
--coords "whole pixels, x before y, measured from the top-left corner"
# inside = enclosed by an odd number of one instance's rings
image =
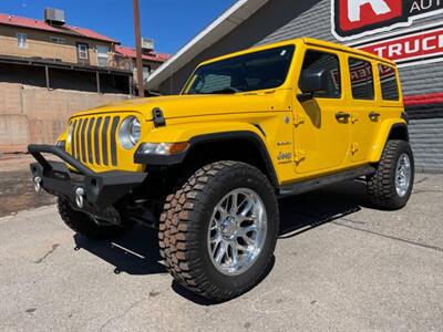
[[[369,61],[350,58],[349,73],[351,76],[352,97],[354,100],[373,100],[374,87],[371,63]]]

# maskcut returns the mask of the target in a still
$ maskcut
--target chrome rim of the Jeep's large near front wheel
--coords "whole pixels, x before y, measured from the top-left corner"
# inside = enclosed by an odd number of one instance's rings
[[[245,272],[265,245],[266,208],[251,189],[238,188],[223,197],[214,208],[208,230],[209,256],[224,274]]]

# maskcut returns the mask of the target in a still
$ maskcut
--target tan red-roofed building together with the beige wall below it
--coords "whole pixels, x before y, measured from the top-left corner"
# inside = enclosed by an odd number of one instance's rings
[[[70,114],[132,97],[135,54],[119,41],[64,22],[0,13],[0,155],[54,143]],[[167,54],[145,50],[147,75]]]

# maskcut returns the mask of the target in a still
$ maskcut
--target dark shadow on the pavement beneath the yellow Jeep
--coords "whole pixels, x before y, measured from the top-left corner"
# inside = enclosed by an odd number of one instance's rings
[[[309,229],[353,214],[368,207],[363,183],[346,181],[321,190],[287,197],[279,200],[280,232],[279,240],[289,239]],[[76,249],[84,249],[114,267],[115,273],[156,274],[166,273],[158,253],[155,230],[135,226],[124,236],[112,241],[92,241],[80,235],[74,236]],[[269,267],[266,276],[272,270]],[[266,278],[266,276],[264,278]],[[216,302],[203,299],[176,282],[172,289],[179,295],[200,305]]]

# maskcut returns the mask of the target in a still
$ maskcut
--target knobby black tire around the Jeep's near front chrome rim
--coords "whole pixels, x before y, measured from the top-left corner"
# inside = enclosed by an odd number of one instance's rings
[[[267,235],[253,266],[241,274],[226,276],[210,260],[207,232],[218,200],[240,187],[253,189],[264,201]],[[179,284],[207,299],[226,301],[251,289],[269,271],[278,230],[278,204],[268,178],[248,164],[226,160],[202,167],[167,196],[158,240],[166,268]]]

